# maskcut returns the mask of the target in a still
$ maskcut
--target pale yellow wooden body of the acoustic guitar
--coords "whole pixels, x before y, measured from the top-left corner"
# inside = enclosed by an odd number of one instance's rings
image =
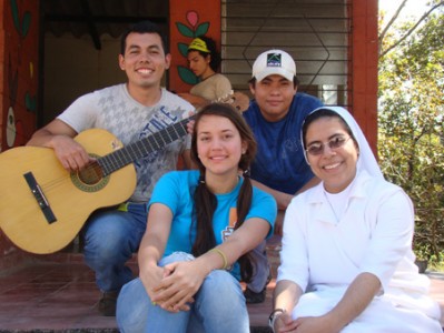
[[[99,129],[81,132],[75,140],[93,157],[122,147]],[[27,173],[41,189],[55,221],[43,214]],[[52,149],[19,147],[0,154],[0,184],[1,230],[20,249],[47,254],[67,246],[93,211],[126,201],[136,188],[136,171],[128,164],[93,183],[85,182],[61,167]]]

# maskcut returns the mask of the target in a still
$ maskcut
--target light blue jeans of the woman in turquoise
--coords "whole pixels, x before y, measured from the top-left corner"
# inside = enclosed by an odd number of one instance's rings
[[[189,261],[194,256],[176,252],[159,265]],[[168,312],[151,301],[136,279],[126,284],[117,300],[117,325],[122,333],[249,333],[249,317],[239,282],[227,271],[207,275],[189,311]]]

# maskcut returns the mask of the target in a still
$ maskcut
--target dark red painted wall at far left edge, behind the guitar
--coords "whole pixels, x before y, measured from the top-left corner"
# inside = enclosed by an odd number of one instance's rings
[[[39,1],[0,1],[0,16],[1,152],[24,144],[36,129]],[[7,190],[2,189],[0,200]],[[0,270],[26,258],[0,231]]]

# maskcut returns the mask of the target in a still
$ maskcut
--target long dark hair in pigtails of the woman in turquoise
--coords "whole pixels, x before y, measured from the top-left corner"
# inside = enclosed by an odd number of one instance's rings
[[[245,122],[240,113],[233,107],[225,103],[211,103],[206,105],[201,111],[199,111],[199,113],[197,113],[195,120],[195,130],[193,132],[191,139],[191,159],[198,165],[200,171],[199,183],[197,184],[194,193],[195,216],[193,223],[196,223],[197,235],[196,241],[193,244],[191,252],[195,256],[199,256],[216,246],[216,239],[213,229],[213,216],[217,208],[217,199],[205,182],[206,169],[199,160],[197,152],[197,129],[199,127],[200,119],[205,115],[227,118],[239,131],[241,141],[247,143],[247,150],[241,155],[238,163],[239,170],[244,173],[244,182],[239,191],[239,196],[237,198],[237,222],[235,230],[237,230],[244,223],[251,205],[253,185],[249,179],[249,165],[251,164],[257,150],[257,144],[250,128]],[[249,253],[246,253],[238,259],[241,278],[246,282],[250,280],[253,274],[253,260],[254,259]]]

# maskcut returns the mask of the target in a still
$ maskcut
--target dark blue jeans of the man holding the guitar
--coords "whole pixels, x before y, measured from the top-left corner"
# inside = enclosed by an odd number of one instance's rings
[[[85,232],[85,261],[102,292],[119,291],[134,279],[127,261],[137,252],[147,226],[147,205],[128,203],[127,211],[103,210],[91,215]]]

